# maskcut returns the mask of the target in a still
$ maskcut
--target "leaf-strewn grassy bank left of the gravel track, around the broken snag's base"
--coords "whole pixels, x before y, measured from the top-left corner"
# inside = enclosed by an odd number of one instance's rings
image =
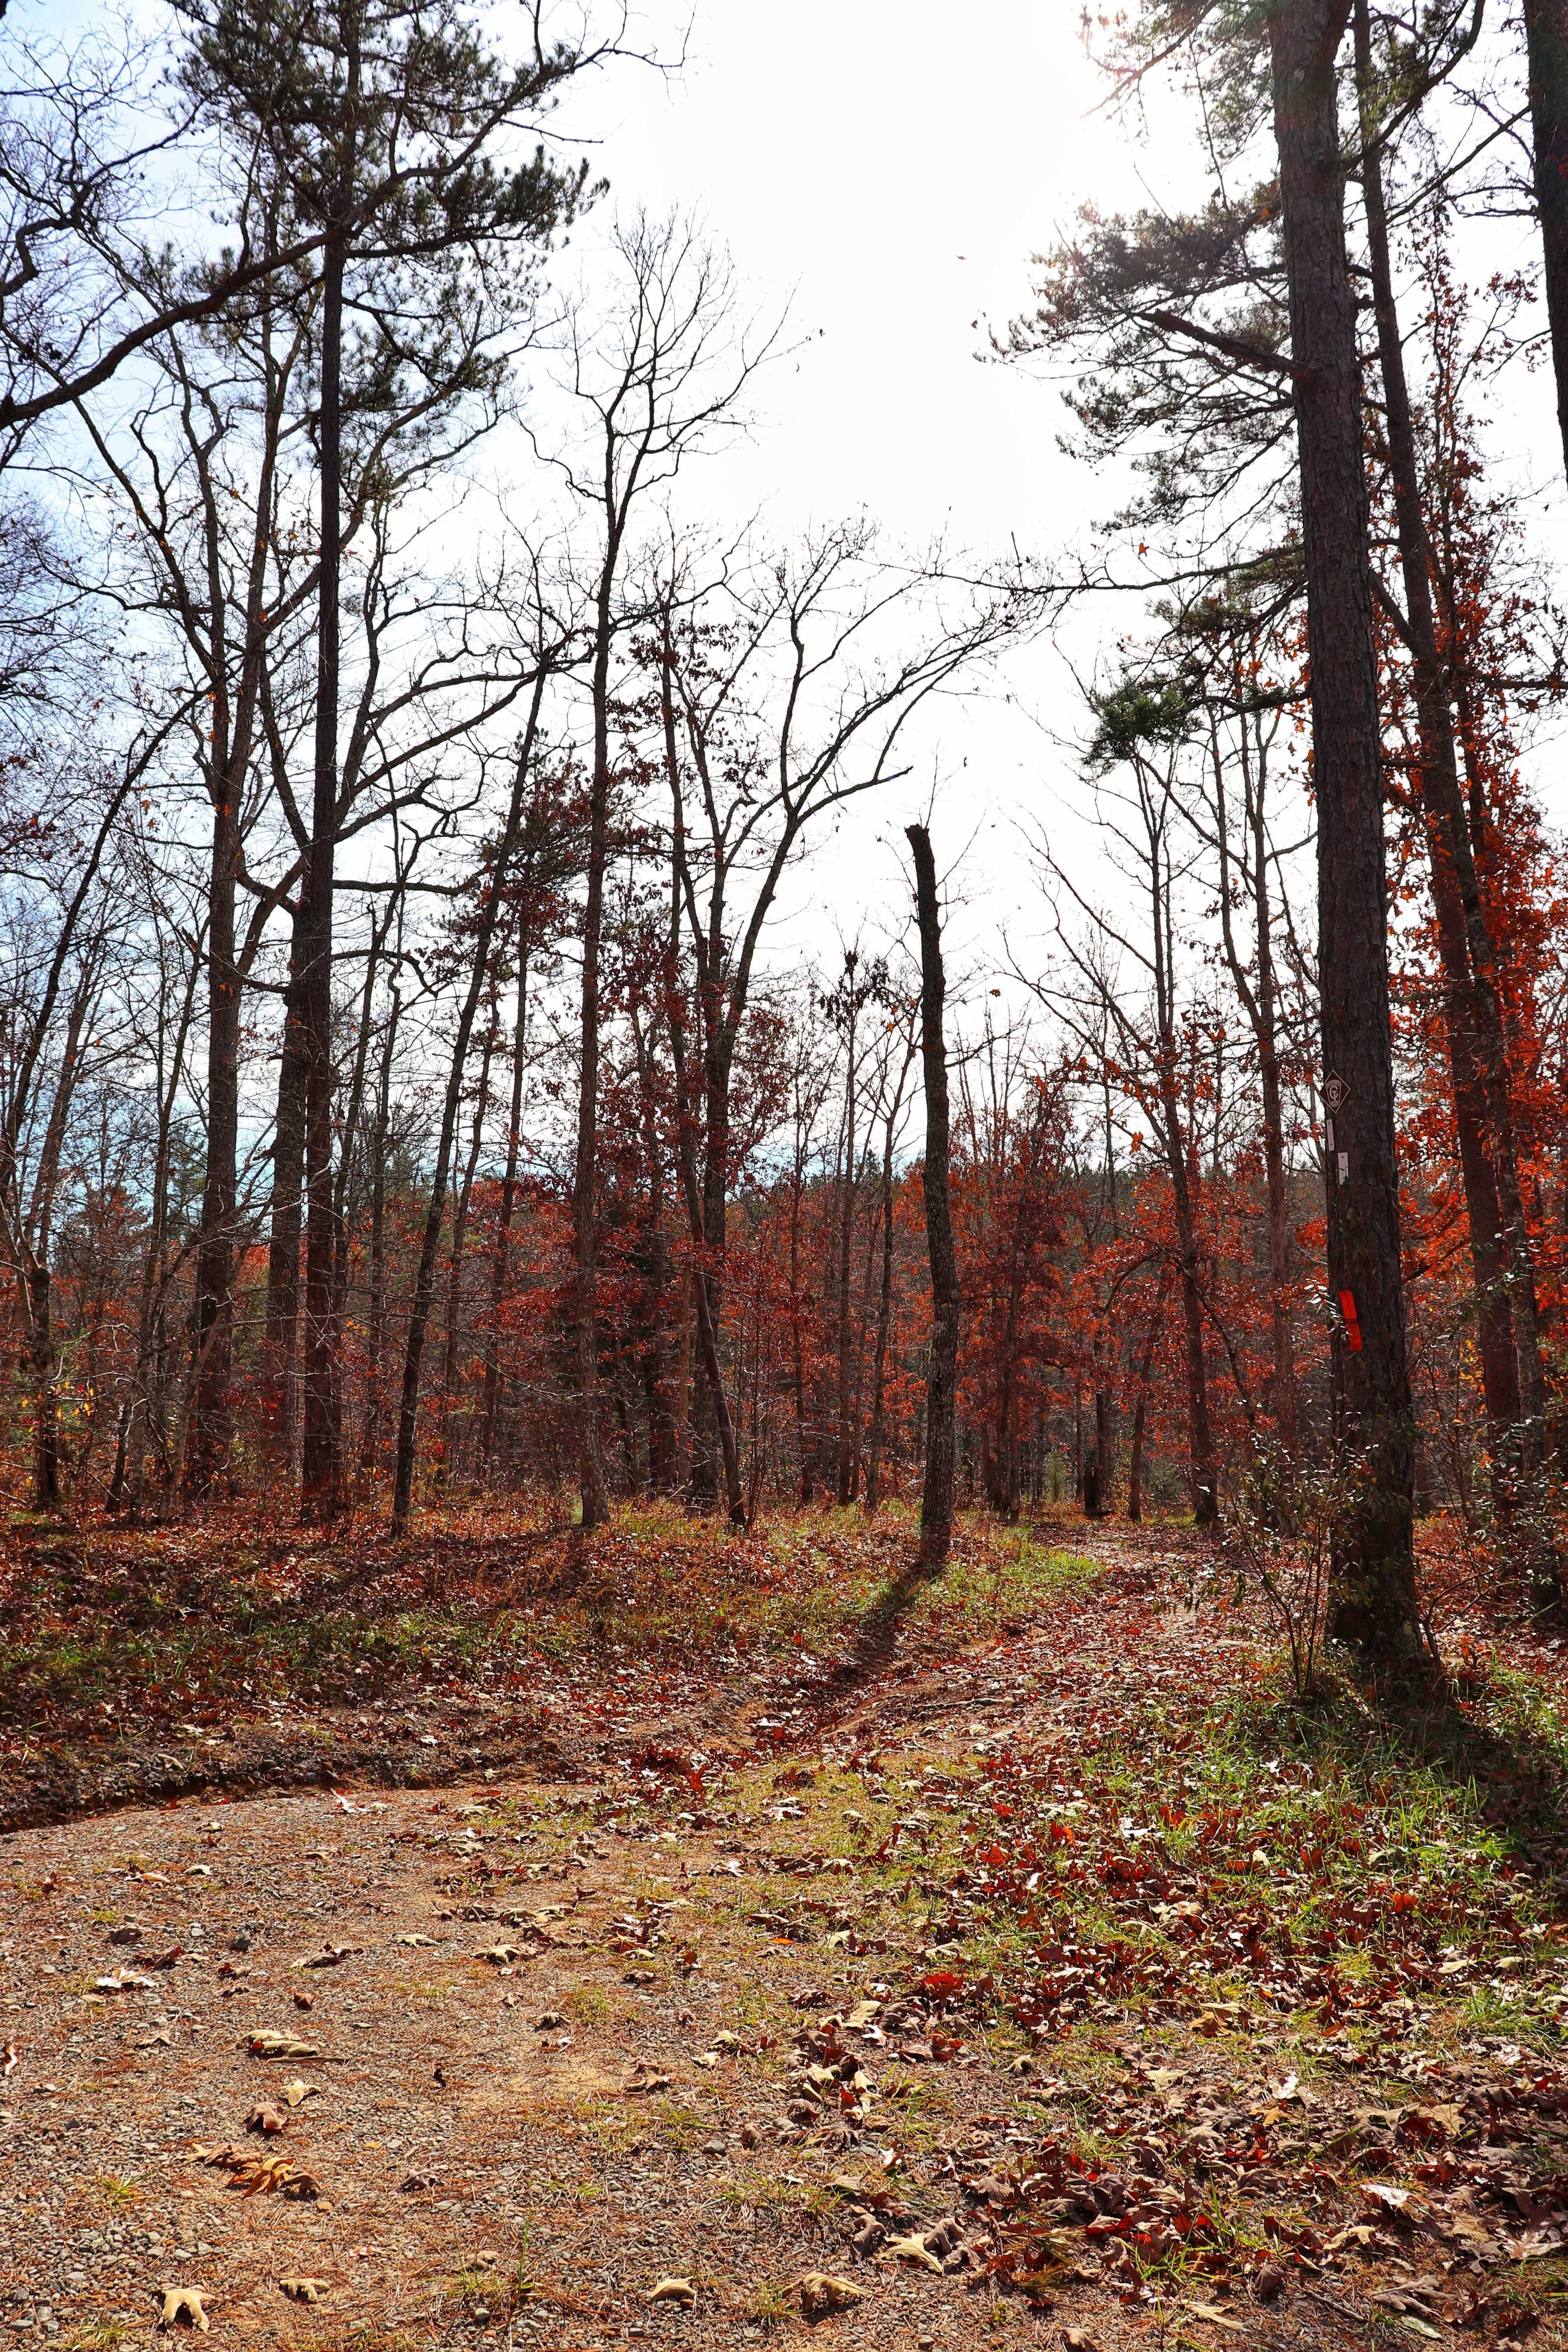
[[[898,1621],[964,1639],[1046,1604],[1084,1564],[969,1526],[912,1583],[891,1508],[816,1510],[731,1536],[675,1505],[592,1536],[559,1512],[447,1512],[393,1545],[249,1524],[19,1541],[0,1581],[0,1733],[113,1736],[247,1708],[320,1710],[421,1689],[505,1696],[541,1670],[616,1682],[813,1663]]]

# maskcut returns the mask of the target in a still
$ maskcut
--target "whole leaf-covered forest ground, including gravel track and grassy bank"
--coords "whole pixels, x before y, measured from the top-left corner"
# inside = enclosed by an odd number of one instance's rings
[[[1568,2345],[1566,1651],[1180,1529],[12,1531],[0,2328]]]

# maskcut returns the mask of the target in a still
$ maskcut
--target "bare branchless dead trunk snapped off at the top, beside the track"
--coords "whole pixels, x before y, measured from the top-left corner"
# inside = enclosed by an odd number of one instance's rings
[[[954,1404],[959,1383],[959,1261],[947,1207],[947,1047],[943,1042],[943,924],[936,861],[924,826],[905,826],[914,851],[919,915],[919,1049],[926,1077],[926,1256],[931,1258],[931,1371],[926,1374],[926,1484],[919,1505],[919,1564],[938,1573],[952,1541]]]

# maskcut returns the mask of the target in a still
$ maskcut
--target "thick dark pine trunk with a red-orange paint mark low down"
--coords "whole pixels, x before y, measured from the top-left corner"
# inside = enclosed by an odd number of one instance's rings
[[[1335,56],[1349,0],[1269,16],[1291,285],[1312,753],[1319,809],[1324,1075],[1342,1181],[1328,1185],[1335,1442],[1363,1458],[1335,1559],[1338,1630],[1394,1663],[1425,1656],[1413,1555],[1413,1404],[1399,1265],[1389,1035],[1382,724],[1368,560],[1356,313],[1345,252]]]

